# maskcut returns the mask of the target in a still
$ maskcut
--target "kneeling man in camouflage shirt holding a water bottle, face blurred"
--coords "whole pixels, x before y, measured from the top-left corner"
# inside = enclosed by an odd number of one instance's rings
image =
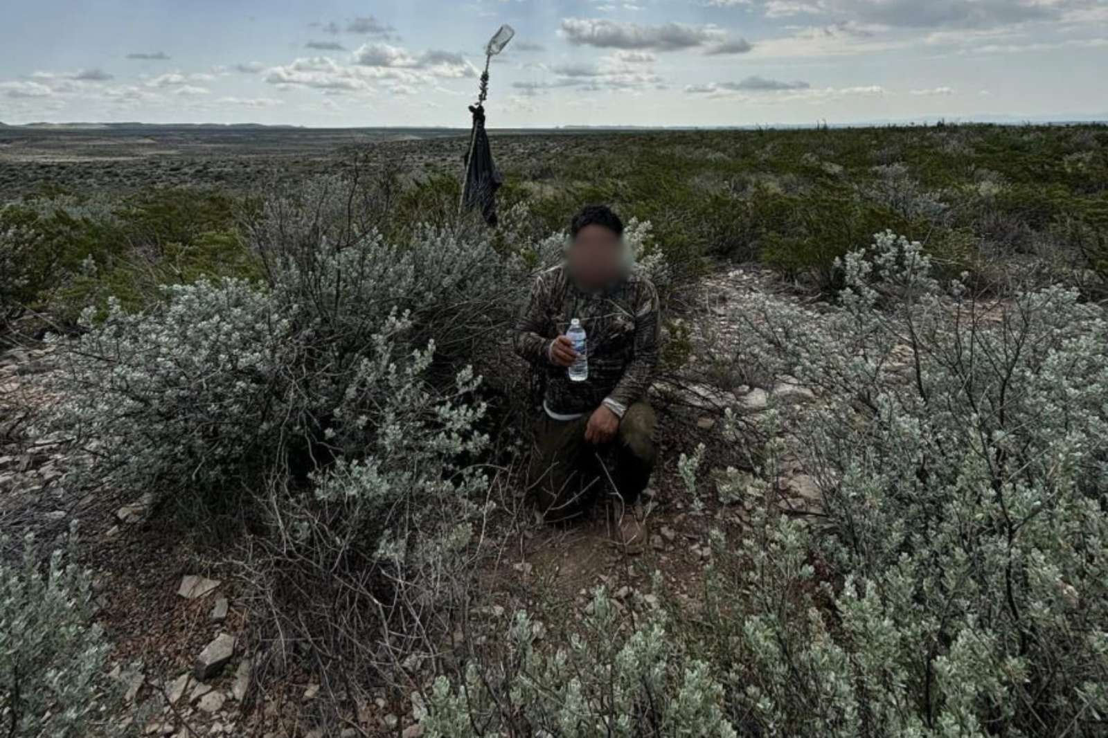
[[[606,503],[613,537],[646,537],[639,494],[654,469],[646,390],[658,358],[658,295],[633,264],[623,223],[607,207],[573,218],[565,260],[538,275],[515,326],[515,351],[545,373],[530,478],[547,521]],[[587,336],[587,379],[574,381],[571,321]]]

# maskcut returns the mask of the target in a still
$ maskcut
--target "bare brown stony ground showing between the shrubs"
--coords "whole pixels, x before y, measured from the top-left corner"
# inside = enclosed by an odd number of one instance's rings
[[[729,303],[751,290],[784,289],[757,267],[711,275],[684,318],[693,327],[694,357],[708,349],[716,355],[737,350],[741,329],[731,320]],[[133,705],[156,705],[154,716],[145,719],[146,732],[179,738],[316,735],[310,721],[288,717],[310,715],[310,709],[299,709],[310,706],[320,689],[310,675],[299,681],[290,677],[295,684],[279,698],[261,697],[259,709],[243,709],[257,697],[250,693],[252,657],[240,639],[245,607],[235,582],[211,563],[217,561],[215,552],[209,555],[152,514],[152,494],[123,500],[103,491],[74,499],[66,492],[63,475],[74,460],[63,439],[30,441],[27,433],[34,408],[50,399],[40,387],[50,370],[50,355],[42,348],[0,355],[0,523],[11,539],[33,533],[40,542],[60,541],[76,525],[83,563],[96,575],[98,618],[116,644],[115,658],[121,666],[142,662],[141,678],[129,683],[127,696]],[[726,442],[717,432],[724,407],[749,418],[771,402],[813,399],[789,378],[772,378],[763,387],[730,386],[704,373],[702,381],[663,378],[655,388],[663,409],[663,461],[648,490],[649,532],[643,550],[629,555],[613,546],[601,520],[555,529],[531,522],[523,511],[502,555],[482,574],[490,586],[485,602],[473,611],[485,634],[481,637],[503,633],[517,608],[546,622],[572,624],[583,617],[591,591],[599,585],[624,612],[653,609],[660,604],[652,587],[656,572],[675,598],[667,604],[695,616],[705,565],[712,556],[709,531],[740,534],[746,512],[741,505],[721,504],[715,493],[705,492],[694,502],[677,473],[677,459],[704,443],[704,468],[711,468],[712,449]],[[812,480],[789,454],[781,468],[776,485],[780,504],[818,516]],[[394,696],[382,694],[358,717],[359,725],[343,735],[420,735],[410,701]]]

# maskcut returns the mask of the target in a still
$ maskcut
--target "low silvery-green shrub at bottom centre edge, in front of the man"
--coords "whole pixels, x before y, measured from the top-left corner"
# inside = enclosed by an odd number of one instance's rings
[[[515,614],[502,660],[474,662],[461,684],[440,676],[421,715],[430,738],[478,736],[733,737],[711,667],[674,648],[660,616],[630,632],[603,587],[558,648]]]

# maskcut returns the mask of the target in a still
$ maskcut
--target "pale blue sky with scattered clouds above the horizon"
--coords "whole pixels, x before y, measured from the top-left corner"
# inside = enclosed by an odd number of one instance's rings
[[[1108,117],[1108,0],[0,0],[0,121]]]

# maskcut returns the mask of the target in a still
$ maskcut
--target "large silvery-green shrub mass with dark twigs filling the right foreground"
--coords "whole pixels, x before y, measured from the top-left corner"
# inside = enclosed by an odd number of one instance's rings
[[[741,310],[743,360],[820,393],[789,435],[833,534],[780,521],[736,563],[739,709],[788,734],[1098,734],[1101,311],[1059,287],[978,304],[891,234],[843,269],[825,316]]]

